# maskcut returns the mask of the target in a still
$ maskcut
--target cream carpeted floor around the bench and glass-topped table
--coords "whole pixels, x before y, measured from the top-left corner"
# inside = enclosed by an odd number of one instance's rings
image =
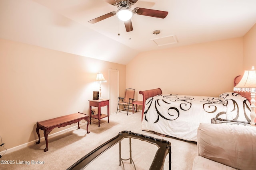
[[[141,130],[141,112],[126,115],[125,113],[114,113],[110,115],[110,122],[104,118],[101,120],[100,127],[98,127],[98,120],[92,120],[89,125],[90,133],[86,133],[86,123],[82,123],[81,129],[70,129],[67,133],[58,135],[56,137],[48,137],[48,151],[44,152],[45,141],[41,139],[41,143],[31,145],[24,149],[5,154],[0,160],[12,161],[14,164],[0,164],[0,169],[4,170],[65,170],[77,160],[82,158],[85,154],[108,141],[112,137],[118,135],[120,131],[132,131],[148,135],[158,139],[170,141],[172,144],[172,170],[191,170],[194,157],[197,154],[196,144],[192,142],[174,139],[172,137],[162,137],[151,132]],[[122,144],[125,145],[125,144]],[[143,149],[147,145],[135,145],[138,149]],[[133,149],[134,149],[133,147]],[[122,166],[113,166],[112,163],[118,160],[118,152],[114,151],[114,147],[108,150],[108,154],[102,155],[104,162],[107,164],[100,168],[95,168],[90,164],[86,169],[99,169],[99,170],[114,170],[122,169]],[[136,150],[136,148],[135,148]],[[146,160],[152,159],[152,150],[148,150],[143,156],[140,153],[132,151],[133,158],[137,170],[148,169]],[[101,161],[103,162],[103,161]],[[110,163],[112,162],[112,163]],[[138,162],[138,163],[136,163]],[[149,161],[150,162],[150,161]],[[95,162],[94,162],[95,163]],[[145,166],[139,166],[145,164]],[[111,167],[110,167],[111,166]],[[133,166],[125,163],[125,169],[132,169]],[[166,156],[164,169],[168,169],[168,156]]]

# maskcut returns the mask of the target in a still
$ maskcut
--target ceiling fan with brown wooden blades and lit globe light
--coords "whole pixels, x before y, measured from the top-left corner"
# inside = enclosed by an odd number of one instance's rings
[[[132,31],[132,21],[131,18],[133,14],[143,15],[143,16],[150,16],[156,18],[165,18],[168,14],[166,11],[159,11],[159,10],[150,10],[146,8],[134,8],[131,10],[130,8],[134,5],[138,0],[104,0],[111,5],[114,5],[118,8],[116,12],[110,12],[98,18],[94,18],[93,20],[88,21],[89,23],[96,23],[98,21],[105,20],[109,17],[116,15],[120,20],[124,21],[124,25],[126,31]]]

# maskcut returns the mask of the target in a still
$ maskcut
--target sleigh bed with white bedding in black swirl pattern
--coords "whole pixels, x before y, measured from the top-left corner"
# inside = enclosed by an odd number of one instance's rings
[[[234,86],[242,76],[234,79]],[[250,122],[250,94],[226,92],[219,97],[162,94],[160,88],[140,91],[142,130],[197,141],[200,123],[213,117]]]

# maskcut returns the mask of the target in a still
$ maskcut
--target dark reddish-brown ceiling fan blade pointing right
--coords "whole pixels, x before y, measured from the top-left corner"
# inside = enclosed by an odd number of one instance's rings
[[[156,18],[165,18],[168,14],[166,11],[150,10],[146,8],[134,8],[134,13],[143,16],[150,16]]]

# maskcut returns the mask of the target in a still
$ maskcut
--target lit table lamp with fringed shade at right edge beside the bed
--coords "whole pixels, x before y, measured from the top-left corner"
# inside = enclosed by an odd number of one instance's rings
[[[234,91],[250,92],[251,93],[251,107],[250,113],[251,125],[255,125],[255,89],[256,89],[256,70],[252,66],[252,70],[245,70],[244,76],[240,82],[234,87]]]

